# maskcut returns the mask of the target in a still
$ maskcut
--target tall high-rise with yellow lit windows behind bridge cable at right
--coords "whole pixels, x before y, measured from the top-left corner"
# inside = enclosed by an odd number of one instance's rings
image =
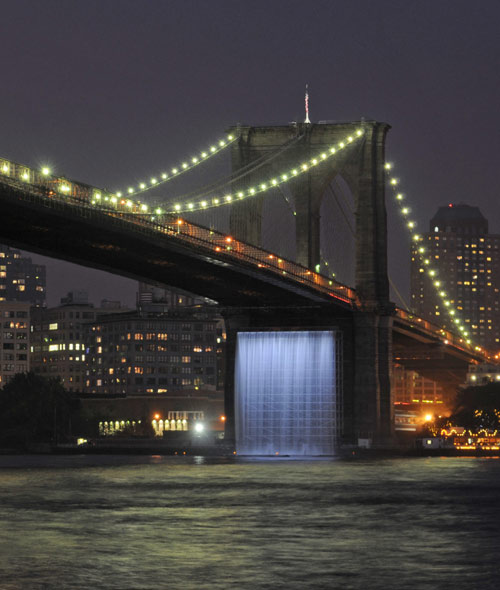
[[[463,319],[470,339],[500,349],[500,235],[488,233],[488,221],[478,207],[439,207],[429,232],[412,244],[411,304],[415,313],[446,328],[452,318],[419,261],[423,248],[446,293],[449,308]]]

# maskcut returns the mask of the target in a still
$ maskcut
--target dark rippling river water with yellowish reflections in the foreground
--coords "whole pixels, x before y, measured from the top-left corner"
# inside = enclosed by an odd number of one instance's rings
[[[497,589],[500,460],[0,456],[1,590]]]

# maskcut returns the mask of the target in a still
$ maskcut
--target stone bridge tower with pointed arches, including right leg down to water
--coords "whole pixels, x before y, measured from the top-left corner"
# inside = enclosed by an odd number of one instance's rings
[[[361,306],[353,319],[352,384],[350,391],[344,391],[352,409],[346,430],[351,431],[351,438],[383,442],[391,438],[393,428],[390,375],[394,306],[389,300],[384,196],[385,137],[390,126],[362,121],[233,128],[230,131],[239,133],[240,139],[232,146],[232,168],[234,178],[242,176],[242,186],[259,183],[319,156],[360,128],[362,137],[288,186],[296,209],[297,262],[311,270],[320,262],[320,208],[327,186],[341,174],[354,196],[354,286]],[[251,164],[256,168],[243,178],[245,167]],[[232,235],[260,245],[263,198],[257,196],[232,206]]]

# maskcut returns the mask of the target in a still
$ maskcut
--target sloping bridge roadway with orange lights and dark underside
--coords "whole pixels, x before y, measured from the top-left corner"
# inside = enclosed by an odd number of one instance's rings
[[[183,219],[129,212],[123,201],[115,206],[108,201],[107,207],[93,204],[91,190],[72,182],[69,194],[62,194],[54,186],[0,175],[0,241],[209,297],[219,302],[223,314],[225,310],[228,324],[229,316],[247,313],[239,326],[248,314],[253,328],[337,326],[347,335],[343,371],[348,389],[358,362],[352,325],[364,313],[353,289]],[[421,318],[397,308],[389,315],[394,361],[437,379],[450,391],[463,383],[469,363],[486,359]],[[344,408],[348,405],[345,400]],[[355,415],[356,409],[350,412]]]

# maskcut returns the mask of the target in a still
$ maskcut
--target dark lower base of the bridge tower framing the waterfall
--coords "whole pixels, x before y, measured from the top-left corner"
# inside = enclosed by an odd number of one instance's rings
[[[235,361],[238,332],[330,330],[337,334],[339,444],[371,439],[374,447],[393,440],[390,389],[392,316],[358,311],[346,314],[330,305],[298,308],[226,309],[226,441],[235,443]],[[333,362],[333,359],[332,359]]]

